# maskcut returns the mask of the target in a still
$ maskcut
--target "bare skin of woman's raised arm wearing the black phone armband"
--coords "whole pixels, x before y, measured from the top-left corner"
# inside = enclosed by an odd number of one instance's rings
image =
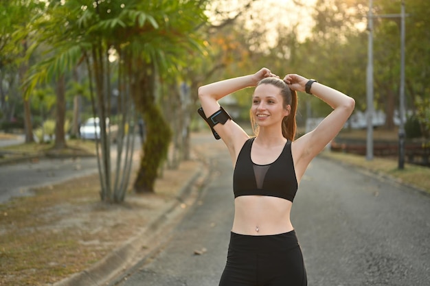
[[[199,99],[206,117],[210,117],[220,110],[220,105],[218,104],[219,99],[235,91],[239,91],[242,88],[256,86],[260,80],[271,76],[278,77],[271,73],[269,69],[262,68],[252,75],[221,80],[220,82],[214,82],[199,87]],[[231,120],[227,120],[225,124],[216,124],[214,129],[227,145],[231,157],[235,162],[238,150],[240,150],[243,142],[248,139],[249,136],[238,124]]]

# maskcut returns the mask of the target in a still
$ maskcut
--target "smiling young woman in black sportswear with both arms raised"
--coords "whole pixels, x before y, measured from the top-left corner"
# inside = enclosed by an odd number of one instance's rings
[[[253,137],[218,104],[218,99],[250,86],[256,86],[250,111],[257,128]],[[294,141],[297,91],[315,95],[333,110],[315,130]],[[234,165],[234,222],[219,285],[307,285],[291,206],[310,160],[341,130],[354,99],[300,75],[281,80],[266,68],[201,86],[199,99]]]

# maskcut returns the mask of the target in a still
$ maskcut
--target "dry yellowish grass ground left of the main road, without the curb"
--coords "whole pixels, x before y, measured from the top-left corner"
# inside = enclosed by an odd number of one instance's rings
[[[67,144],[72,149],[94,148],[91,141]],[[50,147],[32,143],[1,149],[37,155]],[[31,197],[0,204],[0,285],[52,285],[86,270],[176,200],[181,182],[197,166],[196,161],[185,161],[178,169],[164,170],[155,193],[129,190],[122,204],[100,201],[98,174],[34,189]]]

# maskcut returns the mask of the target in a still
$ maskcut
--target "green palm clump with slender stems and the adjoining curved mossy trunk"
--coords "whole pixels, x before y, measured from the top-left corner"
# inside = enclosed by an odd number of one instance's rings
[[[184,64],[179,60],[181,54],[199,48],[193,29],[205,21],[204,6],[198,1],[131,0],[124,4],[112,0],[91,2],[88,6],[81,2],[51,2],[49,12],[34,23],[38,45],[49,43],[50,49],[47,59],[32,67],[27,92],[40,82],[71,71],[78,62],[87,64],[93,114],[100,118],[101,127],[100,141],[96,141],[100,195],[107,202],[122,202],[134,139],[125,136],[126,126],[134,130],[135,109],[146,119],[147,140],[134,186],[136,191],[154,191],[157,170],[170,142],[169,126],[157,102],[157,86],[162,76],[174,75],[175,67]],[[111,146],[105,119],[111,112],[113,78],[117,78],[120,87],[117,98],[122,112],[116,173],[111,178]]]

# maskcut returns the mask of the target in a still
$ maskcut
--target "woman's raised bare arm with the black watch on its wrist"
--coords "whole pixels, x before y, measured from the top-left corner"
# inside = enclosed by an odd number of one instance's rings
[[[284,82],[295,91],[305,91],[308,79],[300,75],[290,74],[285,76]],[[295,141],[295,148],[299,155],[297,161],[301,161],[300,165],[304,165],[305,169],[310,160],[317,156],[343,128],[355,105],[352,97],[318,82],[313,82],[310,86],[310,93],[326,102],[333,108],[333,111],[319,123],[315,130]]]

